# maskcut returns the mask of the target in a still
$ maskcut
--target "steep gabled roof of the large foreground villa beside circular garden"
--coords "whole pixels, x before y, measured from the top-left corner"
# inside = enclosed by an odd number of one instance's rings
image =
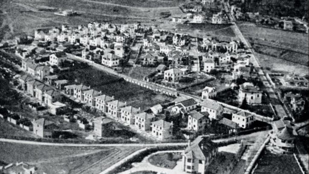
[[[214,142],[199,136],[184,150],[184,154],[188,155],[188,158],[206,160],[209,154],[216,148],[217,146]]]

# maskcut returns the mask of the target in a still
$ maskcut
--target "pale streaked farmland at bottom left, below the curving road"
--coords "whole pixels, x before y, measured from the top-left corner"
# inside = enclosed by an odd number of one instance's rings
[[[50,174],[99,173],[139,148],[38,146],[0,143],[1,160],[36,165]]]

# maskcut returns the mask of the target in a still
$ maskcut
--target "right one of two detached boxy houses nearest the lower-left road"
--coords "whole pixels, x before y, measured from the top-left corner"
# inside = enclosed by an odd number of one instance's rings
[[[94,120],[94,133],[99,137],[109,136],[115,129],[112,119],[106,117],[97,117]]]

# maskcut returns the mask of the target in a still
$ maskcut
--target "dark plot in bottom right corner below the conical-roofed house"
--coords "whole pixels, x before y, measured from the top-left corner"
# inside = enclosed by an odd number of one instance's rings
[[[293,154],[279,155],[264,150],[257,162],[255,171],[252,173],[301,174],[302,172]]]

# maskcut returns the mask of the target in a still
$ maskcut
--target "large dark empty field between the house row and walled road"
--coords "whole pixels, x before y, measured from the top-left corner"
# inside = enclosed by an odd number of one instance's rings
[[[154,106],[161,102],[171,102],[173,98],[156,94],[150,89],[129,83],[116,76],[109,75],[105,72],[96,70],[91,67],[63,72],[61,77],[64,79],[72,79],[77,83],[91,86],[103,94],[114,96],[116,99],[127,102],[133,107],[147,107]],[[158,97],[163,99],[158,99]],[[143,101],[143,102],[141,102]]]

